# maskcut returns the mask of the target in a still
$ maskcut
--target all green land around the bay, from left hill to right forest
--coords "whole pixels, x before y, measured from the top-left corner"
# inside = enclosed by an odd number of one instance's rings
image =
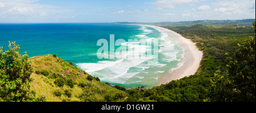
[[[196,42],[204,56],[195,75],[150,89],[104,84],[54,54],[28,59],[9,42],[10,50],[0,47],[0,101],[255,102],[255,20],[251,23],[156,24]]]

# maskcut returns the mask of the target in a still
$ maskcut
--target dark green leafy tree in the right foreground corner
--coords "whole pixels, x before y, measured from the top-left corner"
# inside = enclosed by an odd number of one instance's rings
[[[253,25],[255,29],[255,20]],[[238,44],[235,57],[226,59],[228,76],[217,75],[211,80],[213,90],[210,93],[221,95],[214,97],[214,101],[255,102],[255,37],[250,36],[245,44]]]

